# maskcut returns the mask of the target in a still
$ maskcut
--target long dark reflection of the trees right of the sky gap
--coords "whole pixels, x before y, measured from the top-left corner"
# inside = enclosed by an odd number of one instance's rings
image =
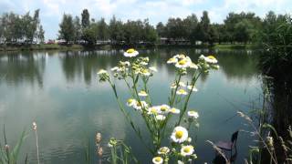
[[[255,59],[256,56],[248,56],[246,52],[217,52],[214,53],[207,49],[186,49],[186,48],[165,48],[154,50],[141,50],[140,56],[149,56],[151,66],[157,68],[167,67],[166,71],[169,76],[175,75],[175,67],[166,65],[166,61],[176,54],[186,54],[197,61],[198,57],[214,54],[218,57],[221,69],[226,77],[245,79],[254,77],[256,74]],[[84,52],[67,52],[60,57],[62,67],[68,81],[76,80],[76,77],[83,77],[89,85],[92,82],[92,76],[100,68],[110,68],[118,64],[120,60],[127,60],[122,56],[120,51],[84,51]],[[205,81],[208,76],[201,77]]]

